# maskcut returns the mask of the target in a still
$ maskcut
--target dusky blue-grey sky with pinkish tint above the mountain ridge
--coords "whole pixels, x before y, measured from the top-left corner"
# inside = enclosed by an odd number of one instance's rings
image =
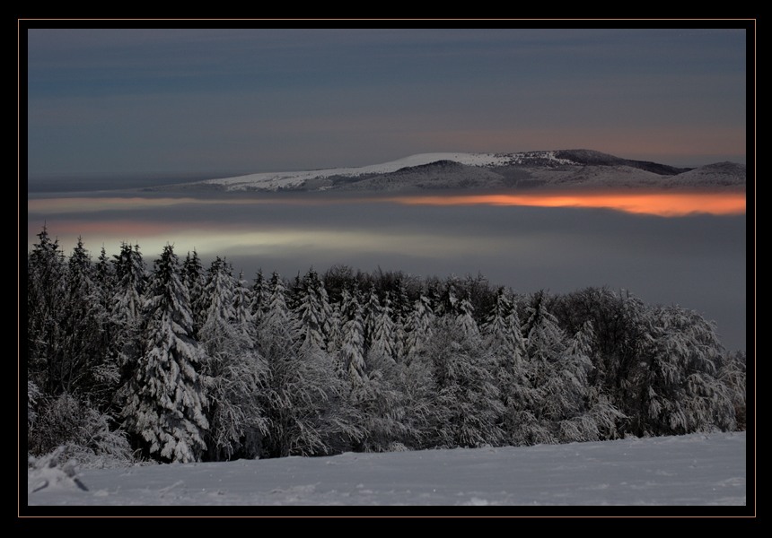
[[[20,39],[31,177],[575,148],[745,162],[745,30],[30,28]]]

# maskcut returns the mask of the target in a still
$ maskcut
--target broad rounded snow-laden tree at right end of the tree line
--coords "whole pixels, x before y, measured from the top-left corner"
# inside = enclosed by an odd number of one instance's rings
[[[682,435],[734,430],[731,391],[716,376],[724,348],[715,325],[675,306],[649,316],[635,387],[641,413],[636,435]]]

